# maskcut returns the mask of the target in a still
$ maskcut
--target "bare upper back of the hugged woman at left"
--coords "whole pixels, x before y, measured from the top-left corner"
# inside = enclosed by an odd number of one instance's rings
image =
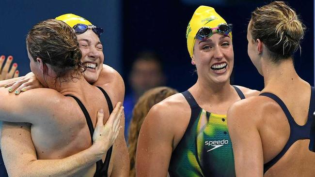
[[[34,91],[34,93],[32,93]],[[33,110],[31,136],[39,159],[60,159],[75,154],[92,145],[86,117],[78,103],[51,89],[34,89],[25,92],[26,97],[37,97],[37,110]],[[88,85],[70,93],[85,106],[93,127],[97,110],[104,109],[104,122],[109,118],[109,109],[103,93]],[[49,95],[49,99],[43,97]],[[39,104],[40,103],[40,104]]]

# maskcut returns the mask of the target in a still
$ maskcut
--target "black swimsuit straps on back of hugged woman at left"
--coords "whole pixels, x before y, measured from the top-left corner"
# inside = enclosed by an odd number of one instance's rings
[[[110,101],[110,97],[108,96],[108,94],[106,93],[106,91],[103,88],[101,88],[101,87],[97,87],[97,88],[99,88],[103,92],[103,94],[106,98],[107,104],[108,104],[110,114],[111,114],[111,112],[113,111],[113,107],[112,107],[112,103]],[[79,106],[80,106],[80,108],[81,108],[81,110],[82,110],[82,112],[86,118],[86,122],[88,124],[89,131],[91,134],[91,141],[93,143],[94,127],[93,127],[93,123],[92,123],[92,120],[91,120],[91,117],[90,117],[88,111],[86,110],[83,103],[77,97],[72,96],[72,95],[66,95],[66,96],[74,98],[77,101],[77,103],[79,104]],[[106,153],[106,158],[105,158],[104,163],[102,162],[102,160],[99,160],[96,162],[96,171],[95,171],[94,177],[107,177],[108,167],[110,164],[111,151],[112,151],[112,146],[108,149],[108,151]]]

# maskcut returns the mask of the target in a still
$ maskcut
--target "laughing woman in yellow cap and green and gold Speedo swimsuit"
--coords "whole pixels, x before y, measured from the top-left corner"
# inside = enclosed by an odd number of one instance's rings
[[[186,37],[198,80],[149,111],[139,133],[137,177],[235,176],[226,113],[258,91],[230,85],[232,32],[214,8],[196,9]]]

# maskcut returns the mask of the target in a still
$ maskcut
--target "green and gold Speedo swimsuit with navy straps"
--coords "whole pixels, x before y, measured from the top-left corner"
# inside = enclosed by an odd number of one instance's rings
[[[241,99],[244,94],[236,88]],[[226,115],[206,112],[190,92],[182,93],[191,108],[186,132],[172,153],[171,177],[234,177],[234,156]]]

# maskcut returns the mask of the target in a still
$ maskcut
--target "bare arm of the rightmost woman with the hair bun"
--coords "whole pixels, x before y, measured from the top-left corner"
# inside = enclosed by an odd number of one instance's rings
[[[227,113],[237,177],[263,176],[264,155],[256,123],[259,114],[255,112],[255,106],[245,99],[234,103]]]

